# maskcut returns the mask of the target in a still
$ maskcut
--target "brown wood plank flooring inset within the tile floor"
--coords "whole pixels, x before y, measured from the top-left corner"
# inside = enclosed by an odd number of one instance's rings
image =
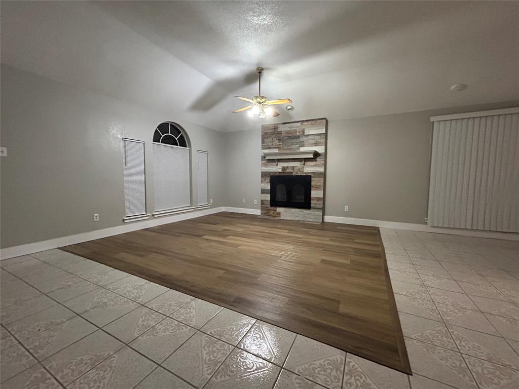
[[[223,212],[63,249],[411,373],[378,228]]]

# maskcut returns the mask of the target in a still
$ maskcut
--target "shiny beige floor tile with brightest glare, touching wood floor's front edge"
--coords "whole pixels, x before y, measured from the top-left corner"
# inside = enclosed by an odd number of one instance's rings
[[[271,324],[256,321],[238,347],[276,365],[283,366],[296,334]]]

